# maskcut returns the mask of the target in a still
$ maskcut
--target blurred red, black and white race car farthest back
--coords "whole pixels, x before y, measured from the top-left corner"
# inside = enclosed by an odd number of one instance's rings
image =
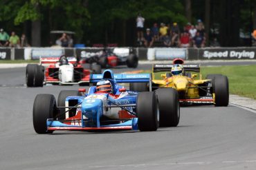
[[[80,63],[97,63],[102,68],[127,65],[136,68],[138,66],[138,56],[129,47],[105,48],[100,52],[82,52]]]

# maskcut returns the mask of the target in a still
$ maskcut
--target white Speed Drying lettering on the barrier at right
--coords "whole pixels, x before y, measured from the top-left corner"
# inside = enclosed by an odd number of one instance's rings
[[[234,58],[234,59],[241,59],[241,58],[248,58],[248,59],[254,59],[255,58],[255,52],[252,51],[246,51],[243,50],[241,52],[237,52],[235,50],[226,50],[223,52],[210,52],[210,51],[204,51],[203,57],[212,59],[212,58]]]

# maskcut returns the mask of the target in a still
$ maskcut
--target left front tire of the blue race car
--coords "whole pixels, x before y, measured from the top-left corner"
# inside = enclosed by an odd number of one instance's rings
[[[47,118],[57,115],[56,100],[52,94],[37,94],[33,105],[33,125],[37,134],[51,134],[47,131]]]

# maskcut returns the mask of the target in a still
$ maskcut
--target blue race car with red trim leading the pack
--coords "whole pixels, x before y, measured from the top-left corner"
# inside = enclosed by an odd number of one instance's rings
[[[133,129],[156,131],[158,126],[179,124],[179,96],[175,89],[134,92],[118,83],[149,83],[150,74],[91,74],[85,89],[61,91],[57,103],[52,94],[37,94],[33,125],[38,134],[55,130]]]

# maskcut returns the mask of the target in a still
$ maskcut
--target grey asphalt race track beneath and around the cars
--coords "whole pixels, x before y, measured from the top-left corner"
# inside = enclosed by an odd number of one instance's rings
[[[153,132],[39,135],[35,96],[79,86],[27,88],[25,68],[0,70],[0,84],[0,169],[256,169],[256,114],[239,107],[182,107],[178,127]]]

